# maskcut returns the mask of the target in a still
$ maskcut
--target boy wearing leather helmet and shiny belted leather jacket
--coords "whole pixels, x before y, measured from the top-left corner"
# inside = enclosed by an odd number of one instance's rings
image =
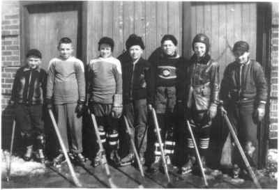
[[[186,111],[186,119],[198,139],[199,154],[205,167],[206,151],[209,148],[211,120],[216,116],[219,93],[219,65],[209,55],[209,38],[199,33],[193,39],[194,55],[190,58],[186,78],[179,80],[177,102],[181,113]],[[182,104],[183,106],[179,106]],[[183,121],[185,123],[185,118]],[[185,124],[184,124],[185,125]],[[196,163],[193,140],[188,132],[188,159],[181,166],[180,173],[193,170]]]

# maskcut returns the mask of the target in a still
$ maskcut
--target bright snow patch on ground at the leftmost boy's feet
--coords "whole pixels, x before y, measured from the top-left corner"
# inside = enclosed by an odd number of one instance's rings
[[[1,176],[6,177],[10,153],[1,150]],[[36,161],[24,161],[20,157],[11,157],[10,176],[37,175],[45,173],[45,165]]]

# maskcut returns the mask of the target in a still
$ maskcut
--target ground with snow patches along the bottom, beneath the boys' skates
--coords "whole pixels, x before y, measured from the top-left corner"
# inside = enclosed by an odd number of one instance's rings
[[[71,188],[75,187],[73,180],[65,164],[61,168],[45,166],[34,161],[23,161],[19,157],[13,157],[10,181],[6,181],[6,158],[7,152],[2,153],[2,180],[1,188]],[[91,161],[86,161],[84,166],[75,166],[77,177],[84,188],[109,188],[110,184],[105,174],[105,168],[98,166],[93,168]],[[110,166],[112,181],[119,188],[204,188],[204,181],[198,174],[185,176],[176,175],[177,169],[169,173],[171,182],[163,173],[142,177],[140,171],[133,166],[114,168]],[[277,180],[266,175],[266,171],[257,171],[259,183],[263,189],[277,189]],[[210,189],[255,189],[251,180],[245,180],[242,184],[234,184],[231,178],[220,171],[211,171],[206,175]]]

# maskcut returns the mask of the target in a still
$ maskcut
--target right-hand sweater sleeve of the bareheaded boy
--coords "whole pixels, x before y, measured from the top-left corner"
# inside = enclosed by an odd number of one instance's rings
[[[75,65],[75,74],[77,78],[77,86],[79,93],[79,100],[85,101],[85,75],[84,75],[84,64],[82,61],[77,60]]]

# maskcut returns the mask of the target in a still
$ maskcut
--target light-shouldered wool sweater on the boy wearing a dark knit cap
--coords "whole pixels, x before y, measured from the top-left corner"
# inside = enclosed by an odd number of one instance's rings
[[[92,59],[87,77],[89,101],[113,104],[114,95],[122,95],[121,63],[117,58],[110,56]]]

